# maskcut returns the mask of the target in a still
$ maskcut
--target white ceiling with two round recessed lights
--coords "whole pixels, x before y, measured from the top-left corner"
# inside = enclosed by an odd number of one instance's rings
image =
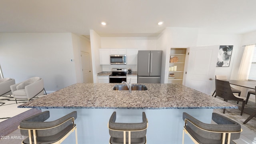
[[[188,27],[244,34],[256,30],[255,6],[256,0],[1,0],[0,32],[156,36]]]

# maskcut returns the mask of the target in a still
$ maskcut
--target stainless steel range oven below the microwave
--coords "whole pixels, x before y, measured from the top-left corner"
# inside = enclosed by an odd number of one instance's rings
[[[126,68],[112,68],[112,74],[109,75],[109,83],[122,83],[126,81]]]

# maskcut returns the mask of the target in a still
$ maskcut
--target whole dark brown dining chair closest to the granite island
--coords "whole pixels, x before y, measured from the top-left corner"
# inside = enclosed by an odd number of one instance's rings
[[[242,116],[246,98],[234,95],[231,90],[230,83],[228,81],[215,79],[215,87],[216,96],[224,98],[224,101],[228,102],[228,100],[235,100],[238,102],[243,102],[240,114]],[[223,110],[223,113],[225,113],[225,110],[226,109]]]

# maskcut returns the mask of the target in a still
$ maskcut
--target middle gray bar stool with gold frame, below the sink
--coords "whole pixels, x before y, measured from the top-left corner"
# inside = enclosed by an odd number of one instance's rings
[[[140,123],[117,123],[116,112],[110,117],[108,129],[110,134],[110,144],[146,144],[146,132],[148,120],[145,112],[142,112],[142,122]]]

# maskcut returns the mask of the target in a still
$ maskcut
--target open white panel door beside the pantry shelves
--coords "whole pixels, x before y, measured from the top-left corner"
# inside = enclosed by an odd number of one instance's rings
[[[220,46],[190,48],[186,86],[210,94]]]

